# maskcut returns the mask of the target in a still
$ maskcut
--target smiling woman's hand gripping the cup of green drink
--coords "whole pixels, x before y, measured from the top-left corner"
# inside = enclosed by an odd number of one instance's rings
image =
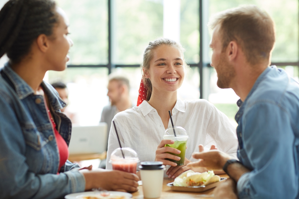
[[[169,160],[165,160],[166,158],[176,160],[176,161],[181,159],[180,157],[178,157],[176,155],[170,154],[170,153],[180,154],[181,153],[180,150],[169,147],[169,146],[165,146],[165,144],[173,144],[173,143],[174,143],[173,140],[162,140],[156,150],[155,161],[163,162],[164,165],[170,165],[173,167],[177,166],[177,163],[169,161]],[[166,152],[170,152],[170,153],[166,153]]]

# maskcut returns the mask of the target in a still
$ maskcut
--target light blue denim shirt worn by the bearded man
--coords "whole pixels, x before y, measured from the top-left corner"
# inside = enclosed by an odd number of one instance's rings
[[[237,105],[237,155],[251,170],[237,182],[239,198],[299,198],[299,84],[268,67]]]

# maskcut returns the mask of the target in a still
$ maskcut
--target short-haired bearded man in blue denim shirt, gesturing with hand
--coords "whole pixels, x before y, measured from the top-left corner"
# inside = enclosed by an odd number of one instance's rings
[[[275,42],[271,17],[256,6],[214,16],[211,66],[220,88],[240,97],[237,160],[219,151],[194,153],[191,167],[223,169],[230,178],[215,198],[299,198],[299,84],[282,69],[269,67]]]

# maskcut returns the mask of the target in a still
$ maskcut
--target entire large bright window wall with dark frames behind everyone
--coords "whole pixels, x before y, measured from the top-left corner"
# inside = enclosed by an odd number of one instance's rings
[[[0,0],[3,5],[7,0]],[[180,99],[205,98],[224,112],[233,124],[238,96],[219,89],[216,71],[210,67],[210,33],[213,14],[242,4],[266,10],[276,24],[272,64],[282,67],[298,81],[298,0],[57,0],[70,19],[68,68],[50,71],[50,83],[64,81],[69,88],[69,111],[81,125],[97,124],[102,108],[109,104],[110,73],[130,79],[130,96],[137,102],[140,64],[149,41],[170,37],[181,42],[190,69],[178,94]],[[0,63],[6,61],[5,57]]]

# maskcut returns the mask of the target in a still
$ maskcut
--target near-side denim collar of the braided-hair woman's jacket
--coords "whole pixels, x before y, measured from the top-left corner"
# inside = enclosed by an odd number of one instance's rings
[[[11,69],[8,62],[4,65],[3,72],[15,86],[16,94],[21,100],[34,93],[33,89],[18,74],[16,74],[16,72]]]

